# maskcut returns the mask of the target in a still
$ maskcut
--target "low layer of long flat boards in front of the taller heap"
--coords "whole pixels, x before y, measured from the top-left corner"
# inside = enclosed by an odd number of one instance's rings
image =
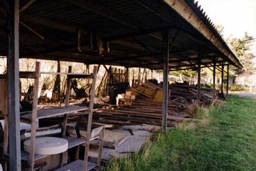
[[[180,102],[169,102],[167,125],[175,126],[177,123],[194,120],[185,114],[185,105]],[[94,111],[94,119],[102,123],[111,124],[162,124],[162,103],[148,100],[133,100],[133,105],[107,107]]]

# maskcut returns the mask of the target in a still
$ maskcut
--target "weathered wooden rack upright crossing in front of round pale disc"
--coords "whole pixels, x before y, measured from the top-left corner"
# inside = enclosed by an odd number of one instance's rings
[[[35,134],[37,127],[37,104],[38,104],[38,91],[39,91],[39,81],[40,81],[40,62],[37,62],[35,65],[35,83],[33,89],[33,109],[31,115],[31,146],[29,153],[29,163],[31,170],[34,168],[34,155],[35,155]]]

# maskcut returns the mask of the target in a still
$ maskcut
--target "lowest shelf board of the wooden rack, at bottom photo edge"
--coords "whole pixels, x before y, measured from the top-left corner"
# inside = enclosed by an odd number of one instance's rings
[[[88,161],[86,170],[88,171],[94,168],[96,168],[96,164]],[[81,171],[81,170],[83,170],[83,161],[77,160],[63,166],[62,168],[58,168],[55,171]]]

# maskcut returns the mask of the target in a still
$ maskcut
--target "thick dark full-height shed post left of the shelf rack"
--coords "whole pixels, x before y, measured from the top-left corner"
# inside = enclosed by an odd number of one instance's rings
[[[19,125],[19,0],[8,1],[7,33],[7,78],[10,170],[21,170],[20,125]]]

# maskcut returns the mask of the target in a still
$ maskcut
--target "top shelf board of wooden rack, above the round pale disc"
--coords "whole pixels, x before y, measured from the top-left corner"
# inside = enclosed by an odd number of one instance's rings
[[[37,119],[58,117],[58,116],[63,116],[65,114],[76,114],[76,113],[79,114],[78,112],[87,111],[87,110],[88,110],[88,107],[80,107],[80,106],[41,109],[41,110],[38,110],[37,112]],[[31,111],[29,111],[27,114],[22,115],[21,118],[26,120],[31,120]]]

